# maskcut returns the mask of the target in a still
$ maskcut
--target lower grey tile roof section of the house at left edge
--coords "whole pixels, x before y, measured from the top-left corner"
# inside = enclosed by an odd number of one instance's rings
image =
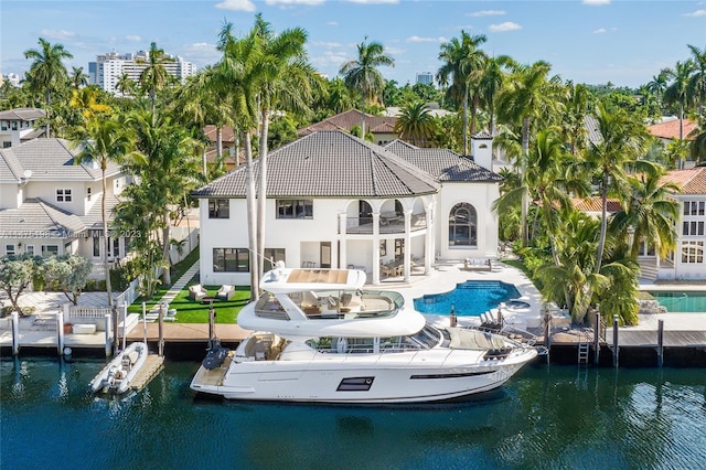
[[[65,238],[84,228],[81,217],[39,197],[0,210],[0,238]]]

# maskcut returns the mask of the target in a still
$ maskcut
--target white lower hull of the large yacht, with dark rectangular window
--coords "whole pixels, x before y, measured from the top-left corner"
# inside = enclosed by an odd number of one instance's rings
[[[419,354],[426,357],[419,357]],[[482,360],[478,351],[431,350],[350,354],[344,361],[231,362],[220,380],[202,371],[191,388],[237,400],[336,404],[425,403],[461,398],[502,386],[536,356],[534,349],[503,360]],[[203,367],[202,367],[203,368]],[[214,371],[211,371],[213,374]]]

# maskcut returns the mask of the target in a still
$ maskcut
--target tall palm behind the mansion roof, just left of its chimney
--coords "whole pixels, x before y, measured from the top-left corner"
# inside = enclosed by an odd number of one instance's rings
[[[485,53],[479,47],[486,41],[485,35],[479,34],[471,36],[461,30],[461,40],[453,38],[451,41],[441,44],[439,60],[443,61],[443,65],[437,72],[437,81],[439,83],[448,83],[451,78],[452,95],[460,97],[463,103],[463,154],[468,154],[468,100],[471,85],[479,85],[482,77],[482,71],[485,64]],[[473,97],[478,96],[478,92],[473,92]],[[475,102],[471,110],[473,118],[471,132],[475,131]]]

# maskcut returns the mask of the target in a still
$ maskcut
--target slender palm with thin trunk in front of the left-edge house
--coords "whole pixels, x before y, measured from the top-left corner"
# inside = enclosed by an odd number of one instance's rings
[[[121,162],[129,154],[132,142],[125,132],[125,127],[114,116],[101,114],[86,120],[84,133],[73,145],[81,148],[74,163],[94,161],[100,167],[100,181],[103,193],[100,195],[100,218],[103,222],[103,267],[106,277],[106,291],[108,293],[108,307],[113,309],[113,331],[118,331],[118,311],[113,301],[113,287],[110,285],[110,266],[108,252],[110,250],[108,236],[108,217],[106,214],[106,171],[110,162]],[[117,344],[115,345],[117,346]]]

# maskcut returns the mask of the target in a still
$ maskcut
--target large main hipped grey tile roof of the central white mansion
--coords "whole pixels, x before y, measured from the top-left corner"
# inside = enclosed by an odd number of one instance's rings
[[[259,160],[254,161],[255,177]],[[245,197],[245,165],[192,194]],[[436,193],[438,182],[384,148],[342,131],[318,131],[267,157],[268,197],[388,197]]]

